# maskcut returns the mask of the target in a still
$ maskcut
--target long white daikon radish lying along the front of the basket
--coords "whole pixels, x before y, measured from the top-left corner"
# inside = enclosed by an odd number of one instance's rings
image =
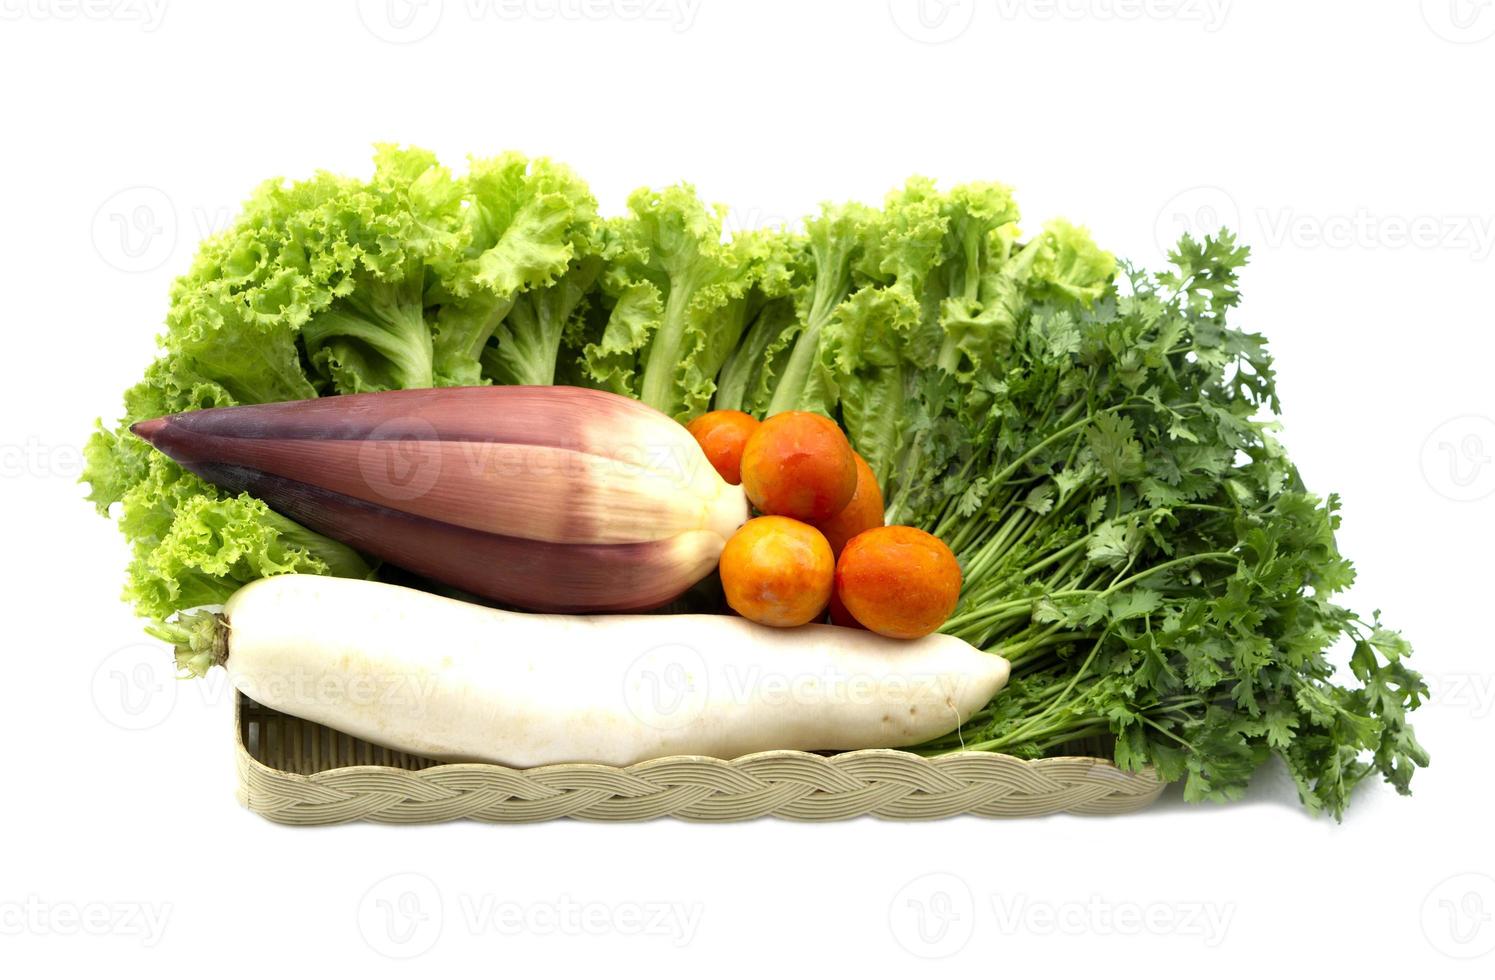
[[[181,636],[178,636],[181,638]],[[897,641],[728,615],[538,615],[280,575],[199,620],[184,666],[254,701],[441,760],[510,766],[912,745],[1008,680],[954,636]]]

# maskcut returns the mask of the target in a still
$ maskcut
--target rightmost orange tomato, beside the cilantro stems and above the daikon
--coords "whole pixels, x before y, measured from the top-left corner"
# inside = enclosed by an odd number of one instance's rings
[[[939,629],[960,599],[960,563],[918,527],[873,527],[846,542],[836,595],[875,633],[916,639]]]

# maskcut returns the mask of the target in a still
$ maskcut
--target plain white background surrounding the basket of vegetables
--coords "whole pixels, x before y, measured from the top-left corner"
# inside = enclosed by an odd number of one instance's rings
[[[389,953],[428,976],[891,976],[918,955],[1489,976],[1495,955],[1458,956],[1495,946],[1495,4],[389,1],[0,0],[9,976],[386,976]],[[78,448],[196,241],[266,176],[366,172],[374,140],[549,154],[610,212],[685,178],[734,227],[915,172],[1014,184],[1029,227],[1063,214],[1142,263],[1235,224],[1286,442],[1346,499],[1350,602],[1435,686],[1416,796],[1366,787],[1338,826],[1275,771],[1239,805],[1008,823],[290,831],[239,810],[221,677],[176,686],[138,645]],[[425,919],[399,944],[380,902],[407,892]]]

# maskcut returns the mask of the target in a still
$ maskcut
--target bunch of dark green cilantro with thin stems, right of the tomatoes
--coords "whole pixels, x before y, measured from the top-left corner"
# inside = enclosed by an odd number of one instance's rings
[[[1407,793],[1428,763],[1407,722],[1426,696],[1410,647],[1335,604],[1354,578],[1338,502],[1272,438],[1263,338],[1226,323],[1245,257],[1229,233],[1184,238],[1172,270],[1127,270],[1090,308],[1029,306],[1000,370],[922,379],[912,444],[940,477],[907,484],[896,517],[966,569],[945,630],[1015,668],[922,751],[1042,756],[1105,736],[1190,801],[1239,796],[1275,756],[1335,816],[1363,778]]]

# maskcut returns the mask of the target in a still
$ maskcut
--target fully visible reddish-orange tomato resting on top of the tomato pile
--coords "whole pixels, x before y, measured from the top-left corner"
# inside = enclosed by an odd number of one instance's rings
[[[748,438],[742,478],[748,499],[764,514],[818,524],[857,491],[857,457],[825,415],[780,412]]]

